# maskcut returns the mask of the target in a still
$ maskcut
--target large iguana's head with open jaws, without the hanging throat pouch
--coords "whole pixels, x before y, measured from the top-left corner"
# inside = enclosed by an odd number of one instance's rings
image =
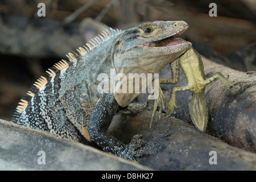
[[[128,68],[142,68],[149,73],[160,73],[165,65],[191,48],[190,42],[175,41],[174,37],[186,31],[184,21],[156,21],[143,23],[124,31],[115,53],[115,68],[128,73]]]

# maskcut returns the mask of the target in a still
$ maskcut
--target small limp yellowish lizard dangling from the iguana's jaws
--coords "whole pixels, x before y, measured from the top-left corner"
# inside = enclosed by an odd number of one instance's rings
[[[185,40],[181,38],[174,38],[176,42],[185,42]],[[154,119],[155,112],[157,110],[157,106],[161,107],[160,109],[166,109],[169,117],[173,113],[175,105],[175,92],[176,91],[186,91],[190,90],[192,92],[192,99],[189,104],[189,114],[191,120],[193,121],[195,127],[201,131],[206,130],[207,122],[208,122],[208,109],[205,101],[205,87],[210,84],[210,82],[214,81],[216,78],[219,78],[224,86],[227,86],[229,89],[230,86],[233,86],[231,82],[228,80],[228,77],[223,76],[220,72],[215,73],[210,78],[205,78],[205,72],[203,70],[203,62],[199,53],[194,49],[190,48],[187,52],[183,53],[177,60],[170,63],[172,78],[159,78],[159,82],[163,84],[177,84],[179,82],[179,65],[185,76],[187,78],[186,86],[174,86],[171,88],[170,100],[168,104],[165,106],[163,104],[163,99],[165,96],[163,95],[162,89],[159,86],[159,97],[155,100],[154,103],[154,111],[151,118],[151,125]],[[159,115],[161,118],[161,113]],[[150,125],[150,126],[151,126]]]

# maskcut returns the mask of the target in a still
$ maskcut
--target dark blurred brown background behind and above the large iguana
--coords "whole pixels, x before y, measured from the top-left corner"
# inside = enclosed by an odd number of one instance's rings
[[[45,3],[46,16],[38,16]],[[209,16],[216,3],[217,16]],[[0,118],[10,121],[35,80],[107,27],[185,20],[182,38],[208,59],[256,71],[255,0],[1,0]]]

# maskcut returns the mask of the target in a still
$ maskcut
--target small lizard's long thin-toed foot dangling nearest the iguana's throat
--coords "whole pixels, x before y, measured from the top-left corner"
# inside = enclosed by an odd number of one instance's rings
[[[153,114],[151,117],[151,122],[150,122],[150,129],[152,127],[153,121],[154,121],[154,117],[155,117],[155,113],[157,112],[157,106],[159,105],[159,119],[162,119],[162,109],[166,109],[165,107],[165,103],[163,102],[163,100],[165,99],[165,95],[163,94],[163,91],[161,89],[161,87],[159,86],[159,96],[158,98],[155,100],[154,102],[154,109],[153,109]]]

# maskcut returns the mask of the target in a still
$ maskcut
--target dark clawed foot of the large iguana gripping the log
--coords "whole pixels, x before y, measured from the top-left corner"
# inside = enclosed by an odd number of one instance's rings
[[[142,151],[142,150],[135,151],[137,148],[146,144],[144,140],[140,139],[141,137],[142,135],[134,135],[133,139],[131,139],[131,142],[129,144],[126,144],[124,147],[120,148],[117,155],[121,158],[132,160],[133,162],[136,162],[134,157],[147,155],[148,153],[145,151]]]

